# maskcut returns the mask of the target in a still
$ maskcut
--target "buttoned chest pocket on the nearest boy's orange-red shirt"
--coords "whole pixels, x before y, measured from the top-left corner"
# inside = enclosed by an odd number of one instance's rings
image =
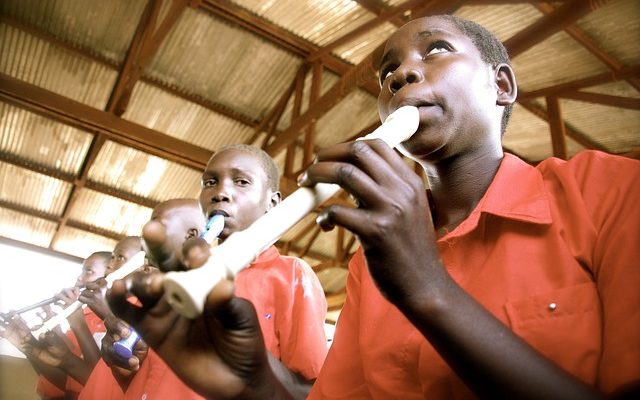
[[[567,372],[595,383],[602,312],[593,282],[511,301],[505,309],[518,336]]]

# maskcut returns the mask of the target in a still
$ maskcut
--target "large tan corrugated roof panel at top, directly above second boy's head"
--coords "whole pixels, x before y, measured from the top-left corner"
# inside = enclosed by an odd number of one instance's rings
[[[258,36],[187,9],[146,73],[258,120],[299,65],[293,54]]]

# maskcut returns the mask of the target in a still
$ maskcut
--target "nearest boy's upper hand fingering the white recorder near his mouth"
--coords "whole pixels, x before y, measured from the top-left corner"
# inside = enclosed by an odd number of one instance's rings
[[[343,143],[320,150],[301,184],[335,183],[358,208],[332,205],[318,216],[327,230],[355,233],[380,291],[396,305],[442,274],[425,186],[381,140]],[[427,266],[427,267],[425,267]]]

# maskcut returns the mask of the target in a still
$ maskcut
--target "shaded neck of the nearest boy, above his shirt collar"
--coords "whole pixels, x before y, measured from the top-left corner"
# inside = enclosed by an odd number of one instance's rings
[[[493,181],[502,157],[500,149],[423,165],[429,179],[438,236],[455,229],[471,214]]]

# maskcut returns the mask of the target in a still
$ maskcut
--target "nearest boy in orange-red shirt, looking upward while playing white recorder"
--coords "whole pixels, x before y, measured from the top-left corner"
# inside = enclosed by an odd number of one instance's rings
[[[425,195],[380,141],[322,150],[301,178],[337,183],[358,200],[357,209],[324,210],[319,223],[350,229],[362,245],[310,398],[637,394],[638,163],[585,152],[531,167],[503,154],[515,75],[502,45],[469,21],[409,22],[389,39],[380,78],[381,120],[419,107],[418,131],[400,150],[424,167],[430,188]],[[225,329],[209,341],[250,346],[248,311],[214,288],[205,313],[224,315]],[[195,367],[181,370],[184,379],[224,398],[286,396],[257,346],[241,356],[218,349],[208,370],[231,368],[233,391],[203,371],[198,379]]]

